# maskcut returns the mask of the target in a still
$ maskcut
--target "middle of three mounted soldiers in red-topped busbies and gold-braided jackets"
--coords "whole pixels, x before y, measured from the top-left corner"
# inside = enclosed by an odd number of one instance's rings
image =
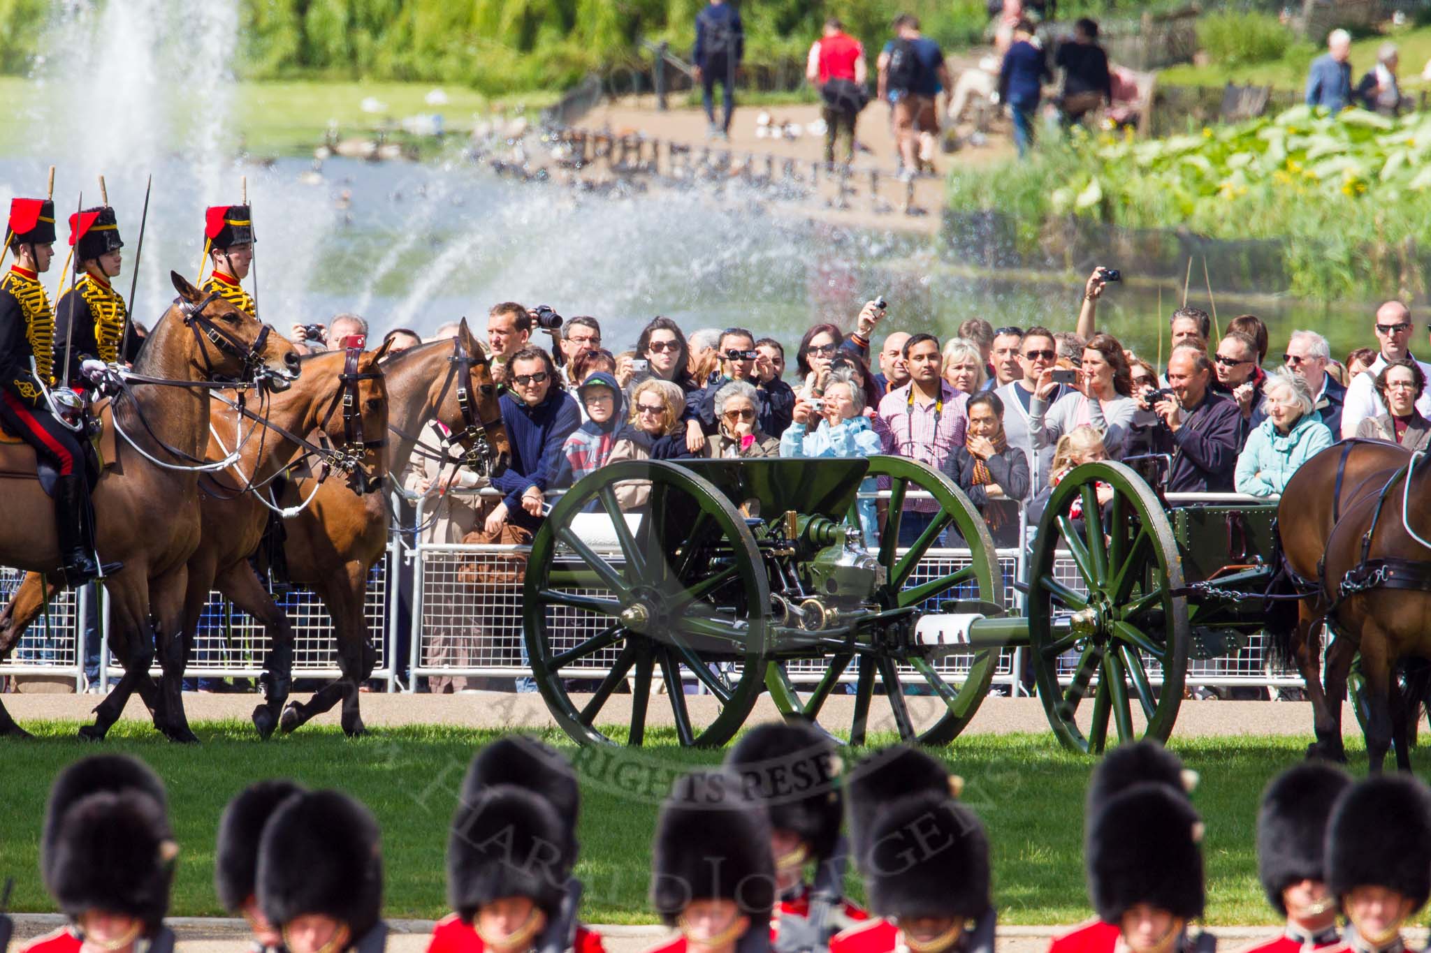
[[[103,371],[84,361],[133,363],[140,340],[124,299],[112,283],[123,267],[124,247],[114,210],[99,206],[72,214],[70,246],[79,277],[54,306],[54,367],[64,373],[69,343],[69,379],[83,383],[90,373]]]

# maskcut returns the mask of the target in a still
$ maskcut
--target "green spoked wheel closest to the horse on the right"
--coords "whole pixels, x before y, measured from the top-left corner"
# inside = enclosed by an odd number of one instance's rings
[[[1100,519],[1078,519],[1075,503]],[[1172,734],[1191,642],[1182,586],[1172,527],[1133,470],[1086,463],[1055,487],[1029,559],[1027,617],[1039,697],[1065,747],[1100,753],[1110,726],[1115,743]]]

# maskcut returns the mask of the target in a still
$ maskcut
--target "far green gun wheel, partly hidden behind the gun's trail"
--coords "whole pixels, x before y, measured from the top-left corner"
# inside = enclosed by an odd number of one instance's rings
[[[886,573],[876,593],[881,609],[919,606],[933,613],[944,610],[942,603],[947,600],[1003,606],[1003,576],[989,527],[949,477],[923,463],[887,456],[870,457],[869,474],[883,477],[880,483],[887,482],[890,490],[879,547]],[[933,496],[939,512],[907,550],[900,552],[900,524],[906,503],[912,503],[907,496],[919,490]],[[860,524],[857,504],[847,522]],[[963,537],[970,556],[926,560],[949,530]],[[886,727],[899,732],[903,740],[947,744],[973,719],[999,663],[997,647],[962,647],[962,652],[954,647],[953,653],[950,649],[914,644],[907,634],[883,629],[861,637],[850,652],[826,656],[814,672],[804,660],[771,662],[766,682],[781,712],[810,717],[831,733],[847,730],[851,744],[864,744],[870,730]],[[849,684],[853,684],[854,713],[850,720],[836,723],[826,703],[831,693],[844,692],[841,676],[853,676]],[[876,692],[884,696],[881,710],[889,709],[889,722],[883,716],[871,717]]]

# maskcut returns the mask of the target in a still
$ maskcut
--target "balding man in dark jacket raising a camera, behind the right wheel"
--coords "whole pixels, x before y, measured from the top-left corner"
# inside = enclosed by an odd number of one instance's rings
[[[1232,492],[1242,414],[1234,400],[1209,390],[1211,380],[1206,351],[1179,344],[1168,359],[1169,389],[1146,397],[1158,414],[1153,450],[1172,454],[1169,493]]]

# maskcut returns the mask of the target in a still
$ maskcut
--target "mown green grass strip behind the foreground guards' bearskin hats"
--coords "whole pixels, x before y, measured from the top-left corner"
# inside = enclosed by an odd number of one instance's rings
[[[0,799],[0,876],[16,877],[11,909],[52,910],[39,884],[36,850],[44,799],[56,772],[92,750],[74,740],[73,723],[27,724],[34,743],[0,742],[6,794]],[[246,783],[292,776],[338,787],[365,802],[384,830],[386,914],[435,919],[444,904],[444,846],[456,790],[472,752],[497,736],[448,727],[382,729],[348,740],[336,729],[305,729],[258,742],[245,722],[200,723],[202,747],[169,744],[146,726],[122,722],[106,750],[145,759],[169,787],[182,847],[175,914],[220,914],[213,887],[215,823]],[[644,750],[577,749],[565,736],[547,740],[571,756],[582,779],[581,863],[584,917],[592,923],[654,923],[645,890],[660,797],[674,774],[716,763],[717,752],[683,750],[657,736]],[[893,739],[880,739],[889,743]],[[1198,770],[1193,802],[1208,824],[1208,920],[1271,923],[1256,883],[1254,826],[1266,782],[1302,757],[1307,739],[1244,737],[1175,742]],[[853,763],[859,752],[849,752]],[[993,843],[995,897],[1005,923],[1075,923],[1088,916],[1082,872],[1083,789],[1090,763],[1046,734],[975,736],[942,756],[966,780],[963,800],[983,819]],[[1365,772],[1359,752],[1355,772]],[[1431,767],[1424,753],[1417,767]],[[863,892],[851,879],[851,892]]]

